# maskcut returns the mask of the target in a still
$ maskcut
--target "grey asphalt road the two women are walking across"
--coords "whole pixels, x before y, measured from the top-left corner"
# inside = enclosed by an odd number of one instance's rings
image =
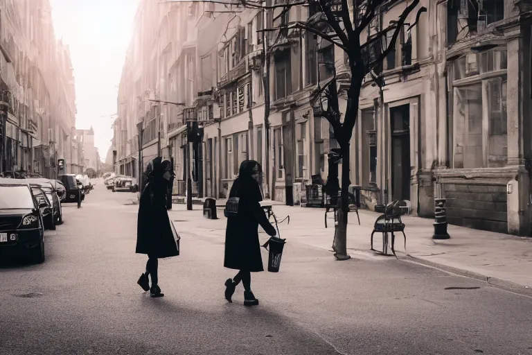
[[[252,275],[260,306],[242,305],[242,286],[228,304],[224,221],[182,206],[181,256],[160,261],[166,297],[151,299],[136,284],[133,198],[100,181],[46,232],[45,263],[0,261],[0,354],[532,354],[529,297],[369,253],[335,261],[301,240],[281,272]]]

